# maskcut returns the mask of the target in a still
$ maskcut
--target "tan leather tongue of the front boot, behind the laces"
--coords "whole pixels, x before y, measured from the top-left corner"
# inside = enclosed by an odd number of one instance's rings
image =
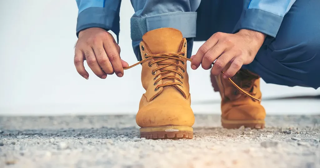
[[[183,36],[182,33],[174,28],[159,28],[155,30],[151,30],[142,36],[142,40],[147,45],[148,49],[152,54],[159,53],[178,53],[181,47]],[[154,58],[155,60],[163,59],[163,58]],[[164,61],[160,61],[159,63],[164,62],[177,62],[175,59],[167,59]],[[163,64],[158,65],[159,67],[164,66]],[[164,69],[177,69],[177,66],[170,65],[168,67],[162,68]],[[176,75],[174,72],[169,72],[163,74],[166,75]],[[174,82],[174,79],[163,79],[163,84],[168,82]]]

